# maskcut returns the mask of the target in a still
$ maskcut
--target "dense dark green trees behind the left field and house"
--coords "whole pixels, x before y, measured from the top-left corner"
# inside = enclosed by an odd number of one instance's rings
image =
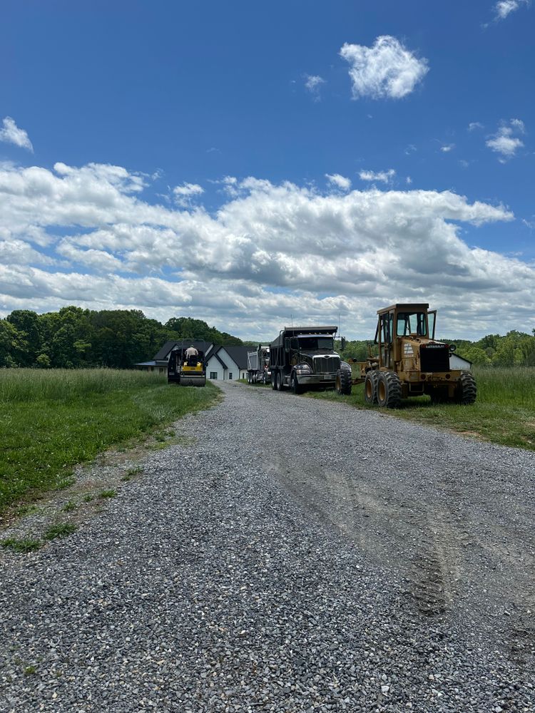
[[[46,314],[16,309],[0,319],[0,366],[130,369],[153,359],[170,339],[243,343],[202,319],[173,317],[161,324],[138,309],[97,312],[71,306]]]

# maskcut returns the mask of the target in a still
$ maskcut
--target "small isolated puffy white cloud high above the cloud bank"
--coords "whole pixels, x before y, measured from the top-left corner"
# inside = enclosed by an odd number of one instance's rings
[[[340,56],[350,63],[353,98],[399,99],[429,71],[427,59],[418,59],[395,37],[377,37],[372,47],[345,43]]]

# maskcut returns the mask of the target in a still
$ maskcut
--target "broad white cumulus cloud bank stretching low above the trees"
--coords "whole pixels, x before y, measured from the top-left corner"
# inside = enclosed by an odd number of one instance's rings
[[[488,329],[531,329],[522,305],[534,267],[462,240],[467,226],[513,220],[501,205],[452,191],[223,181],[235,193],[210,214],[152,205],[118,167],[1,168],[4,314],[135,308],[270,339],[291,314],[325,323],[340,313],[347,337],[367,337],[379,307],[421,300],[446,308],[444,332],[459,337],[484,334],[487,314]]]

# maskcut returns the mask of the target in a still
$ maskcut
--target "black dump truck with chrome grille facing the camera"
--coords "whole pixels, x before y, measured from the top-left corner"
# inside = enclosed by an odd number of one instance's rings
[[[340,369],[337,327],[285,327],[270,344],[272,389],[333,389]]]

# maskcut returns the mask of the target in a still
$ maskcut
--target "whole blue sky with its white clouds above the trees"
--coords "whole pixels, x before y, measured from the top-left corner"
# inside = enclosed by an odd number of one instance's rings
[[[524,0],[8,0],[0,314],[531,332],[533,36]]]

